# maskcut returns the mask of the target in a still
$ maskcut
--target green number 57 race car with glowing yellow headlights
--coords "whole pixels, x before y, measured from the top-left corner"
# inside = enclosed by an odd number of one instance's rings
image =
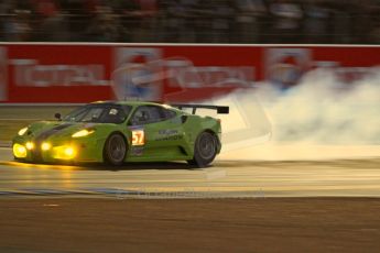
[[[192,113],[184,111],[192,109]],[[142,101],[94,102],[57,121],[39,121],[13,139],[18,161],[36,163],[187,161],[205,167],[220,152],[220,121],[197,108],[228,113],[228,107]]]

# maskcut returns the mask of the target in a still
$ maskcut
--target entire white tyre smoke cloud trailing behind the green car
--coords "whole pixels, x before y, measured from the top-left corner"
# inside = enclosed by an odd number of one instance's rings
[[[357,81],[316,69],[281,91],[270,84],[205,103],[229,106],[221,119],[225,160],[325,160],[378,156],[380,69]],[[197,111],[202,113],[202,110]],[[205,114],[209,114],[207,111]]]

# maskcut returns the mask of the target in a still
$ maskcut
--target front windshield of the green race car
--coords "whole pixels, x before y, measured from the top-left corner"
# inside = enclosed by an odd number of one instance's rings
[[[63,118],[70,122],[122,123],[131,111],[129,106],[90,105],[78,108]]]

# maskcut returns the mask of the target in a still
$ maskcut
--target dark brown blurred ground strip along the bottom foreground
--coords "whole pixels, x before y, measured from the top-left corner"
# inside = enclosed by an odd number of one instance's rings
[[[379,198],[0,198],[0,252],[379,252]]]

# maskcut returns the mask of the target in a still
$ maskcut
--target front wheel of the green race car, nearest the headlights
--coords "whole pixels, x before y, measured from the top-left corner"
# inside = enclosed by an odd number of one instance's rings
[[[110,165],[121,165],[126,154],[127,144],[124,138],[120,133],[109,135],[104,148],[105,162]]]

